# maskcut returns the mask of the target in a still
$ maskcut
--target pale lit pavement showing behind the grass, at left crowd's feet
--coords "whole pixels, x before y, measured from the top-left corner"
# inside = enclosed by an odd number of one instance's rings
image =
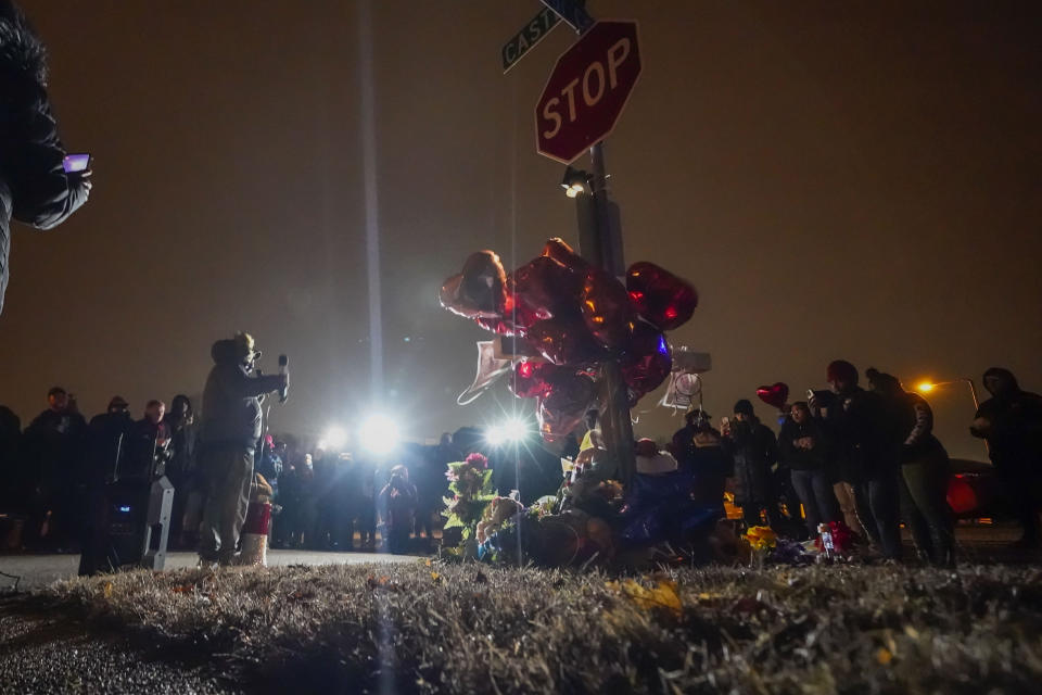
[[[411,555],[386,553],[318,553],[314,551],[268,551],[268,566],[280,565],[359,565],[366,563],[408,563]],[[166,569],[195,567],[195,553],[169,553]],[[0,589],[34,589],[60,579],[76,577],[79,555],[0,555]],[[5,576],[7,574],[7,576]],[[8,577],[9,576],[9,577]],[[18,578],[17,580],[14,578]]]

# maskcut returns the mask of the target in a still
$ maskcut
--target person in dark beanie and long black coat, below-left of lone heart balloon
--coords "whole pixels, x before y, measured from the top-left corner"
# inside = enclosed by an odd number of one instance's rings
[[[724,448],[734,460],[735,504],[741,507],[746,527],[760,526],[760,515],[766,511],[771,528],[782,529],[784,518],[772,477],[778,443],[746,399],[735,403],[735,421],[727,431]]]

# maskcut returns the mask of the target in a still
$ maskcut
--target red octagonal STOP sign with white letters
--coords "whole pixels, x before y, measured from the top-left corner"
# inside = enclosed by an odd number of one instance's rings
[[[571,164],[615,127],[640,75],[636,22],[598,22],[559,59],[535,105],[539,154]]]

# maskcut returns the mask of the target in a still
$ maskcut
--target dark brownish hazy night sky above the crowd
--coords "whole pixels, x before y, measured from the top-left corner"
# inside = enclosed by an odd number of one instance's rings
[[[535,0],[373,5],[360,27],[347,0],[25,0],[63,137],[94,154],[96,187],[59,229],[13,230],[0,402],[28,419],[61,383],[88,415],[114,393],[140,415],[150,397],[199,393],[211,343],[237,329],[269,370],[291,357],[277,430],[370,402],[369,30],[379,401],[419,438],[491,417],[493,401],[455,405],[486,333],[436,289],[473,250],[513,267],[547,237],[575,239],[532,115],[574,35],[558,27],[503,75],[499,48]],[[1039,3],[588,5],[640,22],[644,74],[607,161],[627,261],[700,291],[671,338],[712,353],[714,416],[760,383],[822,388],[836,357],[906,381],[1003,365],[1042,390]],[[968,393],[932,402],[950,451],[979,457]],[[677,422],[647,413],[636,430]]]

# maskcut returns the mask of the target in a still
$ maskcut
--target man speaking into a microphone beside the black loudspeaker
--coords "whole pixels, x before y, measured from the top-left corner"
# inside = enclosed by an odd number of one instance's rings
[[[201,469],[207,478],[199,556],[201,564],[230,565],[246,519],[253,456],[260,438],[260,399],[289,386],[289,375],[252,374],[258,351],[249,333],[218,340],[203,391]]]

